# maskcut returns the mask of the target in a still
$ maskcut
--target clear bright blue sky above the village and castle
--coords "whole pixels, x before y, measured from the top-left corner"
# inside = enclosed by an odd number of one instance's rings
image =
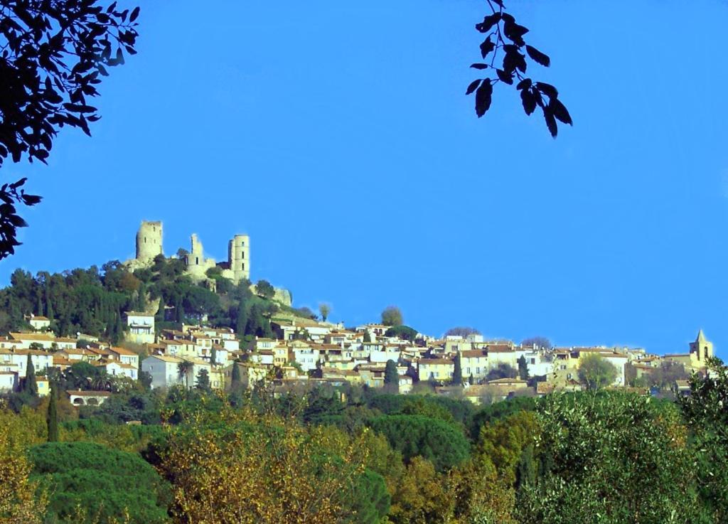
[[[129,258],[151,219],[167,254],[247,232],[254,280],[347,324],[728,344],[727,2],[510,1],[574,116],[558,140],[510,89],[475,118],[483,1],[141,5],[93,138],[3,168],[45,200],[1,282]]]

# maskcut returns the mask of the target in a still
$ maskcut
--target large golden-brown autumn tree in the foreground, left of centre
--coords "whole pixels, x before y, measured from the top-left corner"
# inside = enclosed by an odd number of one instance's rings
[[[224,405],[168,426],[166,441],[160,470],[175,491],[175,523],[352,521],[347,497],[365,471],[360,450],[331,453],[294,418]]]

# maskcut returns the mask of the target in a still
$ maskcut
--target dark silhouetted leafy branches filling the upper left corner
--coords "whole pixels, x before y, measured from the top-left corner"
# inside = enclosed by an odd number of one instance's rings
[[[4,1],[0,5],[0,167],[8,156],[44,164],[61,127],[79,127],[100,116],[87,97],[98,95],[99,75],[135,54],[135,20],[128,9],[103,9],[96,1]],[[128,16],[128,17],[127,17]],[[116,42],[116,49],[114,44]],[[16,230],[25,227],[14,202],[32,206],[41,197],[22,189],[26,178],[0,188],[0,259],[15,253]]]

